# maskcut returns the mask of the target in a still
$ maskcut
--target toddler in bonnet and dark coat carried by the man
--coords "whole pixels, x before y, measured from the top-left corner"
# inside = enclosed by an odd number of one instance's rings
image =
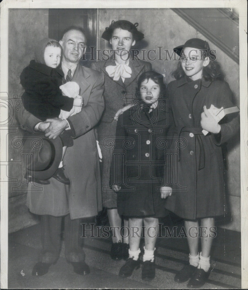
[[[64,74],[58,68],[60,58],[61,46],[59,42],[49,38],[42,39],[35,48],[35,59],[30,61],[30,64],[23,69],[20,75],[21,85],[25,89],[22,95],[24,108],[42,121],[48,118],[64,118],[64,111],[68,117],[82,108],[83,99],[79,96],[78,84],[68,82],[62,85]],[[63,95],[62,92],[66,92],[67,95]],[[75,110],[75,108],[77,109]],[[49,124],[47,123],[47,127]],[[66,148],[73,146],[73,139],[70,136],[70,130],[62,133],[60,137],[63,142],[63,154],[59,168],[53,177],[64,184],[70,184],[70,180],[64,175],[63,158]],[[30,177],[28,178],[30,179]],[[35,182],[50,183],[38,179],[35,179]]]

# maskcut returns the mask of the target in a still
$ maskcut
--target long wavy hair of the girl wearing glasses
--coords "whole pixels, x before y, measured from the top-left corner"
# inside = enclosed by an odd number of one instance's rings
[[[205,41],[205,44],[206,49],[204,50],[207,52],[206,57],[209,57],[208,52],[210,51],[210,47],[207,41]],[[205,59],[205,55],[202,55],[202,57],[203,59]],[[184,70],[182,69],[181,66],[181,61],[179,61],[177,69],[173,73],[171,73],[171,75],[177,80],[185,75]],[[224,75],[222,73],[218,61],[209,59],[209,64],[203,67],[202,77],[206,81],[222,80]]]

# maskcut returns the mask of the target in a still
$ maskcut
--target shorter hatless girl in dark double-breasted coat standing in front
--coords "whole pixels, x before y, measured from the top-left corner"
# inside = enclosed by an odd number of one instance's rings
[[[117,192],[117,209],[128,217],[129,258],[120,269],[120,276],[132,275],[139,267],[140,237],[144,222],[145,247],[142,279],[155,277],[154,250],[158,234],[158,218],[165,216],[161,198],[171,194],[171,187],[160,192],[161,170],[159,160],[164,149],[159,140],[168,134],[172,114],[167,112],[163,94],[163,76],[149,71],[138,79],[141,99],[119,117],[113,150],[113,189]],[[160,138],[160,139],[159,139]],[[115,182],[119,180],[120,182]],[[133,234],[133,229],[137,234]]]

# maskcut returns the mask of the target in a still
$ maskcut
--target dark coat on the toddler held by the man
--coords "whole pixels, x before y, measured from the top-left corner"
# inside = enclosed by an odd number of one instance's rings
[[[20,76],[25,89],[22,95],[24,108],[42,121],[59,117],[60,109],[69,112],[74,99],[63,96],[59,89],[63,76],[59,68],[50,68],[31,60]]]

